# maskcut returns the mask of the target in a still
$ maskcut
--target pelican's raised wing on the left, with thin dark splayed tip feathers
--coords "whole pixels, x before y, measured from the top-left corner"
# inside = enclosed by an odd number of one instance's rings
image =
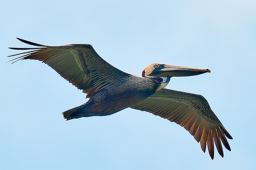
[[[17,57],[10,61],[22,59],[40,60],[46,63],[60,76],[68,80],[83,93],[91,97],[97,91],[113,85],[120,77],[125,78],[129,74],[111,66],[103,60],[90,44],[69,44],[64,46],[45,46],[22,40],[23,43],[37,46],[35,48],[14,48],[14,50],[32,50],[24,53],[14,54]],[[8,56],[8,57],[11,57]],[[13,62],[13,63],[14,63]]]

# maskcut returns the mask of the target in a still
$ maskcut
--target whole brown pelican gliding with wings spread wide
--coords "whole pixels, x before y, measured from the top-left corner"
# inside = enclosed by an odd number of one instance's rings
[[[148,111],[180,124],[197,142],[200,141],[204,152],[206,145],[208,146],[211,159],[214,157],[214,142],[222,157],[221,141],[224,147],[230,150],[226,137],[232,137],[203,96],[164,89],[171,77],[210,73],[209,69],[153,63],[142,71],[142,77],[138,77],[111,66],[90,44],[45,46],[17,39],[37,47],[10,47],[14,50],[32,50],[11,55],[23,54],[11,61],[40,60],[78,89],[83,90],[83,93],[87,93],[86,97],[89,97],[89,100],[86,103],[63,112],[66,120],[106,116],[130,107]]]

